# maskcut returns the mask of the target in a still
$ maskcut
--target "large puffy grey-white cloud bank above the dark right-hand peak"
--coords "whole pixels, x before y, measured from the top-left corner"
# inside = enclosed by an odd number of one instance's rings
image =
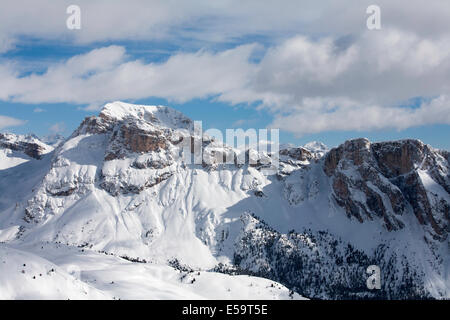
[[[450,124],[450,37],[396,29],[338,39],[295,37],[269,49],[250,85],[220,97],[262,101],[272,127],[297,135]],[[418,109],[413,97],[438,97]]]

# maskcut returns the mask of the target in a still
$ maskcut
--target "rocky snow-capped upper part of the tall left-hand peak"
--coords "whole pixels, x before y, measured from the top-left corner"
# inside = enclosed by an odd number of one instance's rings
[[[95,188],[139,194],[168,179],[180,158],[178,144],[191,131],[191,120],[166,107],[106,105],[54,155],[51,171],[25,209],[26,220],[57,214]]]

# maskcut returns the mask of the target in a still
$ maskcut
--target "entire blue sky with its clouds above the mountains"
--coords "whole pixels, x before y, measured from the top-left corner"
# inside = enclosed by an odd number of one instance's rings
[[[272,2],[175,10],[80,1],[80,30],[65,28],[64,1],[28,2],[26,12],[5,5],[0,131],[68,136],[102,104],[123,100],[171,106],[205,129],[279,128],[283,143],[417,138],[450,150],[449,6],[428,7],[434,20],[421,27],[380,2],[387,21],[376,32],[364,25],[365,3],[336,16],[286,1],[274,16]],[[88,20],[96,5],[103,15]],[[122,12],[134,20],[118,20]]]

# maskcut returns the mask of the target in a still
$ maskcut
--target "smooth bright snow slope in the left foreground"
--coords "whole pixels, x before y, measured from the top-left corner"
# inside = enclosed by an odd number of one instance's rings
[[[0,299],[302,299],[271,280],[133,263],[61,244],[0,244]]]

